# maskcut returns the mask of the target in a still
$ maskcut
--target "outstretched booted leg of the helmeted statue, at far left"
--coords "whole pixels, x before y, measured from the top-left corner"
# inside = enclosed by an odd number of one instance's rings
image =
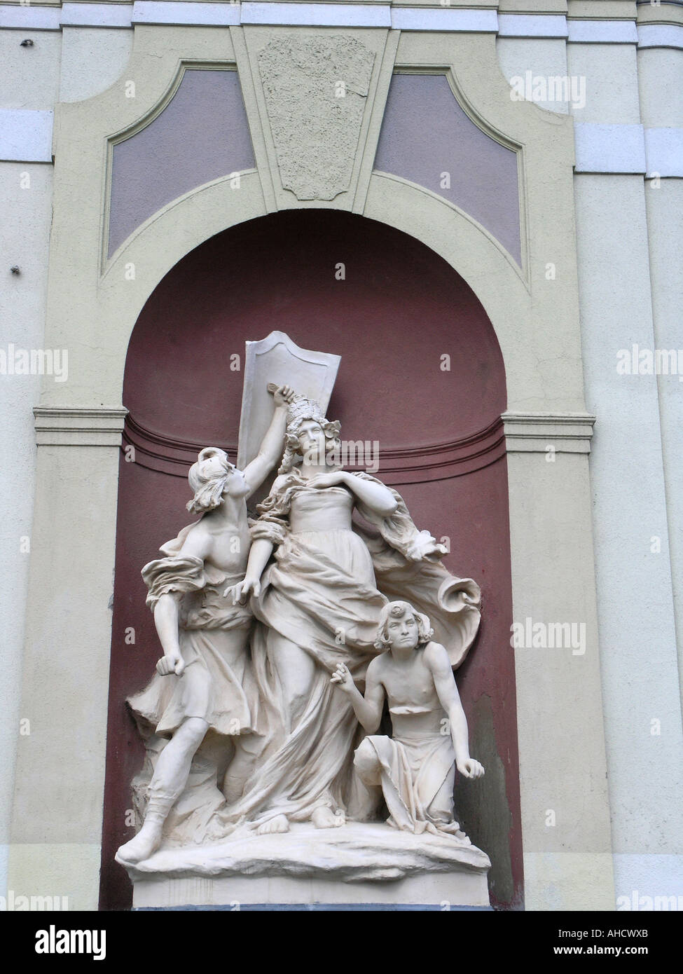
[[[119,862],[141,862],[159,848],[164,822],[185,787],[192,759],[208,730],[209,724],[205,720],[188,717],[175,731],[159,755],[150,781],[149,803],[142,828],[131,842],[120,847],[116,853]]]

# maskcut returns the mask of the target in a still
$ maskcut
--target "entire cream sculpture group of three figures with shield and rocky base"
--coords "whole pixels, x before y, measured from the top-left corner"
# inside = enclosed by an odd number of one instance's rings
[[[335,356],[299,350],[281,333],[253,345],[264,348],[260,359],[250,350],[259,383],[267,356],[282,381],[289,354],[297,382],[315,368],[309,385],[327,398]],[[244,401],[263,429],[262,399]],[[485,878],[487,857],[453,817],[455,766],[483,773],[452,674],[477,631],[478,586],[446,571],[443,548],[395,490],[341,466],[339,423],[315,400],[285,386],[275,403],[244,474],[222,451],[202,451],[188,507],[203,517],[143,569],[165,656],[129,702],[154,740],[171,741],[144,824],[117,859],[137,880],[274,871],[383,880],[453,863]],[[245,415],[241,450],[253,455]],[[249,523],[246,497],[276,458],[278,476]],[[385,694],[393,738],[374,734]],[[191,768],[198,780],[208,768],[194,790]],[[382,795],[393,829],[378,819]],[[205,851],[193,852],[197,843]]]

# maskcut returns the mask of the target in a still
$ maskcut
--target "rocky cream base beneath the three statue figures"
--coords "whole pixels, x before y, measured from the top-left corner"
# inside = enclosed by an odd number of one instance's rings
[[[234,835],[162,848],[128,866],[133,909],[254,905],[487,908],[488,856],[476,846],[383,823],[294,824],[284,835]]]

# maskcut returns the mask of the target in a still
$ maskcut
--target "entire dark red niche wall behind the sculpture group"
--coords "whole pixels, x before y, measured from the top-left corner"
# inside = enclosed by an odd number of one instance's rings
[[[335,280],[340,263],[344,281]],[[456,443],[490,428],[505,411],[505,371],[495,333],[473,291],[445,261],[413,238],[363,217],[293,210],[241,224],[197,247],[142,310],[129,346],[123,401],[133,422],[156,434],[159,457],[171,454],[166,441],[236,449],[243,375],[231,370],[230,356],[244,360],[245,341],[274,329],[304,348],[342,356],[328,414],[341,420],[345,438],[379,440],[380,477],[382,448]],[[450,371],[439,367],[442,355],[450,356]],[[493,789],[495,776],[487,773],[485,783],[475,786],[481,788],[477,801],[493,809],[478,835],[495,859],[492,902],[519,908],[505,456],[499,442],[497,450],[487,447],[484,455],[454,468],[431,463],[426,449],[418,482],[414,457],[403,481],[397,463],[390,482],[418,527],[439,539],[447,536],[446,566],[474,578],[483,591],[481,631],[458,672],[458,686],[471,737],[478,702],[490,701],[493,720],[485,735],[500,757],[502,777],[491,794],[487,782]],[[114,861],[116,848],[132,834],[126,809],[143,758],[125,698],[149,680],[161,654],[140,569],[190,519],[186,467],[176,465],[171,475],[144,464],[126,462],[122,450],[100,895],[100,907],[107,910],[127,909],[132,900],[128,876]],[[134,645],[126,643],[129,627]],[[477,739],[484,733],[479,730]],[[470,784],[461,781],[457,788]],[[476,821],[467,816],[464,821],[477,843]],[[494,856],[494,846],[503,852]]]

